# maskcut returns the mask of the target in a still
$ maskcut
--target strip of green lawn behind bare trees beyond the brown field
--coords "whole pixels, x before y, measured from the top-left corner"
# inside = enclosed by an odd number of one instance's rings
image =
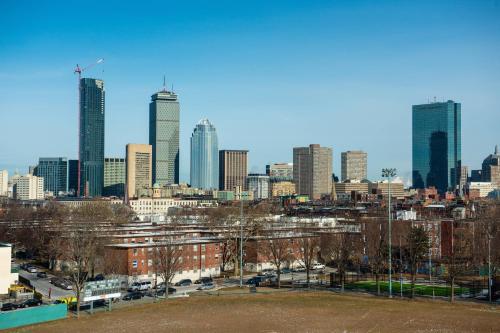
[[[377,291],[377,284],[375,281],[358,281],[347,283],[345,285],[346,289],[363,289],[370,292]],[[389,283],[387,281],[380,281],[380,291],[388,292],[389,291]],[[392,293],[399,294],[401,291],[401,284],[399,282],[392,283]],[[411,292],[411,284],[403,283],[403,294],[409,295]],[[415,285],[415,295],[420,296],[450,296],[451,287],[450,286],[430,286],[430,285]],[[467,294],[469,293],[469,288],[460,288],[455,287],[455,295]]]

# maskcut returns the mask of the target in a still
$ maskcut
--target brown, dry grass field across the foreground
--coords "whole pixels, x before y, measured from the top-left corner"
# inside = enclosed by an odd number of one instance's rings
[[[500,309],[330,292],[193,296],[15,332],[498,332]]]

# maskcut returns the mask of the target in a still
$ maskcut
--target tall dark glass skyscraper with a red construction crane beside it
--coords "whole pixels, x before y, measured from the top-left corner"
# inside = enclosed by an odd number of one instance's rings
[[[79,195],[97,197],[104,187],[104,81],[80,79]]]

